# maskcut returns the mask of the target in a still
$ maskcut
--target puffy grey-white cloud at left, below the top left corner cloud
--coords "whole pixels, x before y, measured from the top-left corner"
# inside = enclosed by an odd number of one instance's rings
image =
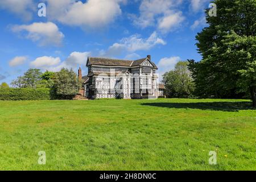
[[[59,31],[55,23],[32,23],[30,25],[14,26],[14,32],[27,31],[26,38],[38,42],[39,46],[54,45],[60,46],[64,34]]]

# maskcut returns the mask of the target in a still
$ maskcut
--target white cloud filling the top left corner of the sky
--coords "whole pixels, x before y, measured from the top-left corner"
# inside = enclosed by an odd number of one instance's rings
[[[21,17],[24,20],[32,18],[32,10],[36,10],[36,5],[32,0],[2,0],[0,9],[5,9]]]

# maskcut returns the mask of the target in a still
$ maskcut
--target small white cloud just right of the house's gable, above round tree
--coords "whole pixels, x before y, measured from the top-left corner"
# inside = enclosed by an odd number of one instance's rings
[[[163,74],[174,69],[177,62],[181,59],[179,56],[175,57],[164,57],[158,63],[159,81],[162,81]]]

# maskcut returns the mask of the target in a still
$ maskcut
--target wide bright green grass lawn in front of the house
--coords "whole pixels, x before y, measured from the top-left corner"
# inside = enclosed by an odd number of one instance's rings
[[[1,170],[256,170],[248,100],[0,101]],[[38,152],[46,152],[46,165]],[[217,165],[209,165],[209,151]]]

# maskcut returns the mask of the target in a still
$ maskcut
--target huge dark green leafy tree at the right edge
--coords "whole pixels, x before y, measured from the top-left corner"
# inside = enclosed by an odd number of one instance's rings
[[[255,90],[251,88],[253,81],[241,84],[241,80],[256,56],[256,0],[216,0],[214,3],[217,16],[210,17],[208,10],[205,11],[209,27],[196,36],[203,59],[199,63],[189,61],[189,69],[199,96],[236,97],[238,92]],[[255,97],[255,93],[251,97]]]

